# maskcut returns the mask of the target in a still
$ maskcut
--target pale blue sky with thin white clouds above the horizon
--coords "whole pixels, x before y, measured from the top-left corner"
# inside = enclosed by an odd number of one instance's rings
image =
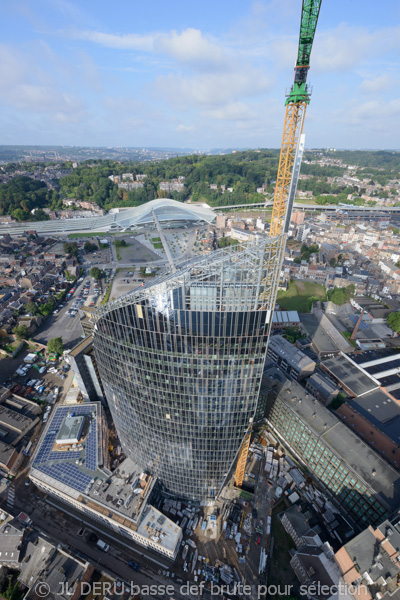
[[[2,144],[279,147],[301,0],[0,4]],[[399,148],[400,3],[322,0],[307,147]]]

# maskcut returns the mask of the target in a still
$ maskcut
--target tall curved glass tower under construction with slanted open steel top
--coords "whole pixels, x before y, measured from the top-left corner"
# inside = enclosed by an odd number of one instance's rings
[[[215,252],[96,315],[124,451],[177,496],[215,499],[254,416],[281,252],[281,238]]]

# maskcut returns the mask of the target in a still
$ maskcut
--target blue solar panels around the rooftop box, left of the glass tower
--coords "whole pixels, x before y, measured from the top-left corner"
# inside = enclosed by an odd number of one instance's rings
[[[62,422],[67,415],[82,416],[91,415],[96,411],[93,406],[61,406],[57,408],[51,420],[48,432],[42,442],[40,450],[34,460],[33,466],[57,479],[66,485],[80,491],[85,492],[92,480],[90,475],[83,473],[82,470],[75,464],[75,461],[82,455],[81,451],[54,451],[54,443],[58,432],[60,431]],[[54,464],[49,464],[55,461]],[[96,417],[91,420],[89,433],[86,439],[85,449],[85,467],[91,471],[97,469],[97,422]]]

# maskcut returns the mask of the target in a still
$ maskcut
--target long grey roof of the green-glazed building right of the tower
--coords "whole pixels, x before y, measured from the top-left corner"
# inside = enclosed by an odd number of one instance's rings
[[[294,397],[296,400],[293,400]],[[362,479],[390,510],[398,510],[400,473],[327,408],[314,402],[314,398],[295,381],[286,381],[278,398],[289,409],[295,410],[300,419],[354,471],[356,478]]]

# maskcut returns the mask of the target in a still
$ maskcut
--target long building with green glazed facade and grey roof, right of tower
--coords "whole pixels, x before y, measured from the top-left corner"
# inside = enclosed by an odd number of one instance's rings
[[[354,526],[380,523],[398,510],[399,473],[298,383],[282,385],[267,420]]]

